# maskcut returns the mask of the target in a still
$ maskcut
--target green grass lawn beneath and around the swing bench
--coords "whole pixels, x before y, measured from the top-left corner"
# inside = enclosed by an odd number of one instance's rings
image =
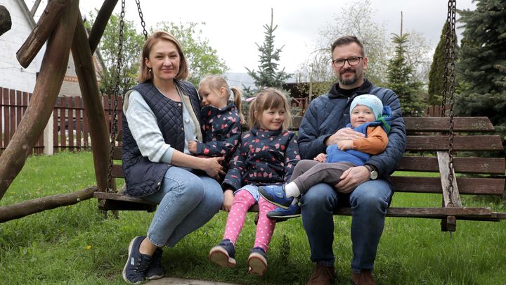
[[[63,194],[96,184],[91,153],[35,156],[0,201],[11,205]],[[472,197],[465,205],[502,205]],[[393,206],[441,205],[441,196],[395,194]],[[120,212],[103,219],[95,200],[83,201],[0,224],[0,284],[124,284],[126,248],[145,234],[153,213]],[[264,279],[247,274],[254,242],[254,214],[248,214],[237,243],[238,266],[216,267],[209,249],[223,235],[226,213],[165,248],[163,265],[170,277],[230,281],[239,284],[305,284],[313,265],[300,219],[278,224],[268,253]],[[349,284],[350,217],[335,217],[336,284]],[[440,220],[387,218],[375,263],[379,284],[506,284],[506,222],[458,221],[452,236]]]

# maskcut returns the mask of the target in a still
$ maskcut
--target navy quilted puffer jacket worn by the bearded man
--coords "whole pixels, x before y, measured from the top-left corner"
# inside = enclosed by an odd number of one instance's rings
[[[313,159],[318,153],[325,153],[325,139],[350,122],[349,107],[353,98],[362,94],[373,94],[382,101],[383,106],[390,106],[391,129],[385,151],[371,156],[365,164],[374,165],[381,177],[388,177],[401,161],[406,148],[406,129],[397,95],[390,89],[372,85],[368,80],[351,96],[340,94],[337,87],[335,84],[328,94],[311,101],[304,114],[298,136],[301,157]]]

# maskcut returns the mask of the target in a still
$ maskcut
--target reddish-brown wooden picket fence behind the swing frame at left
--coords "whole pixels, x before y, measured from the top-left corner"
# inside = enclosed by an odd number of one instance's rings
[[[28,103],[32,98],[31,93],[0,88],[0,121],[1,141],[0,153],[7,147],[8,142],[21,122]],[[105,121],[110,131],[113,111],[112,101],[107,96],[103,97]],[[118,129],[121,129],[122,98],[118,101]],[[84,103],[80,97],[59,97],[53,110],[53,152],[59,151],[83,151],[91,149],[89,125],[84,112]],[[44,137],[41,135],[33,148],[34,154],[44,153]]]

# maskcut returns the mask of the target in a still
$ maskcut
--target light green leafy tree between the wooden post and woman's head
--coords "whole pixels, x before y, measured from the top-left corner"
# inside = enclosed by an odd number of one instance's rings
[[[90,15],[91,23],[95,21]],[[100,72],[100,92],[103,95],[114,95],[117,81],[117,53],[119,49],[119,14],[111,15],[98,45],[100,56],[105,68]],[[93,25],[93,24],[91,24]],[[141,49],[144,37],[135,30],[133,21],[124,20],[122,41],[122,66],[119,75],[119,94],[122,95],[137,83]]]

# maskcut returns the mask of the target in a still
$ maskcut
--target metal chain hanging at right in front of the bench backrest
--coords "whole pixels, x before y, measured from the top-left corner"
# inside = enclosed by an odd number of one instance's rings
[[[456,0],[448,0],[448,30],[447,30],[447,43],[450,42],[448,46],[448,53],[446,57],[449,57],[449,67],[445,65],[445,68],[448,69],[448,73],[445,74],[445,82],[449,81],[449,101],[450,101],[450,127],[449,127],[449,138],[448,138],[448,155],[450,159],[448,160],[448,169],[450,172],[448,173],[448,194],[450,194],[450,206],[453,206],[452,196],[453,196],[453,107],[455,105],[454,92],[455,92],[455,14],[457,12],[456,8]],[[448,31],[450,31],[450,35],[448,37]],[[446,89],[445,89],[446,90]],[[445,91],[446,93],[446,91]],[[445,94],[446,95],[446,94]],[[446,98],[445,98],[446,99]]]

